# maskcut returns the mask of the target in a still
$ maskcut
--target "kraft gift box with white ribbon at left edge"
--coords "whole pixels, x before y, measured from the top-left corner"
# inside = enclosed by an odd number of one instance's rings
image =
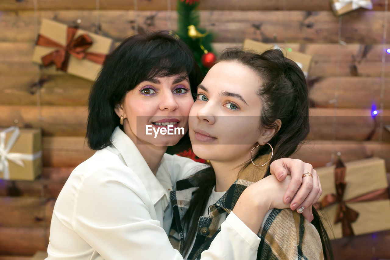
[[[41,129],[0,129],[0,178],[34,180],[41,173]]]

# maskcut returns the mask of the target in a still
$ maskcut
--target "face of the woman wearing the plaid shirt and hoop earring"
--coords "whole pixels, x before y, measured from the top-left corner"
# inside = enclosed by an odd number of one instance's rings
[[[259,129],[261,78],[238,62],[215,64],[198,87],[190,110],[189,134],[194,153],[213,161],[249,160]]]

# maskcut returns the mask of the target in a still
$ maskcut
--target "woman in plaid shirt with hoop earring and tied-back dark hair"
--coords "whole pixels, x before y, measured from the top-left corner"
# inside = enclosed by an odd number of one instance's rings
[[[285,209],[280,194],[288,181],[269,171],[269,163],[292,155],[308,132],[307,82],[295,62],[280,50],[222,53],[198,86],[189,119],[193,152],[211,166],[171,192],[170,235],[185,259],[211,256],[205,250],[230,214],[261,238],[257,255],[246,259],[333,258],[319,215],[313,209],[311,224]]]

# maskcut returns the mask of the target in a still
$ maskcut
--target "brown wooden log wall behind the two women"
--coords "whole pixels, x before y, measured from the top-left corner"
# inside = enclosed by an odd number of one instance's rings
[[[31,62],[41,19],[67,25],[80,19],[80,28],[99,28],[119,43],[135,34],[136,23],[145,31],[176,29],[177,1],[168,1],[170,10],[160,0],[137,0],[135,10],[134,1],[100,0],[96,11],[95,0],[37,0],[37,12],[34,0],[0,2],[0,127],[41,126],[44,164],[33,182],[0,180],[0,260],[46,250],[55,199],[73,168],[93,154],[83,137],[92,82]],[[372,10],[342,18],[323,0],[203,0],[199,6],[201,26],[215,32],[216,53],[249,38],[313,55],[311,131],[294,157],[315,167],[341,151],[344,161],[383,157],[390,172],[390,133],[379,129],[390,125],[390,54],[382,62],[390,26],[384,26],[385,0],[372,2]],[[373,120],[371,106],[381,101],[382,117]],[[390,232],[333,241],[335,259],[390,258],[389,244]]]

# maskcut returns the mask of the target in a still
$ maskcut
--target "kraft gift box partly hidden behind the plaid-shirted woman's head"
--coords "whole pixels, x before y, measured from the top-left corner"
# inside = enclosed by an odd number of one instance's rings
[[[253,40],[250,40],[250,39],[245,39],[244,44],[243,44],[243,48],[244,49],[255,50],[255,51],[259,52],[259,53],[263,53],[266,50],[280,49],[280,50],[282,50],[282,52],[285,55],[285,57],[295,61],[296,64],[298,64],[298,66],[302,69],[302,71],[305,74],[305,76],[306,77],[308,76],[308,72],[309,72],[309,69],[310,69],[310,64],[312,62],[312,56],[311,55],[308,55],[308,54],[305,54],[305,53],[301,53],[301,52],[294,52],[294,51],[287,52],[286,50],[284,50],[283,48],[280,48],[277,45],[269,44],[269,43],[261,43],[259,41],[253,41]]]

